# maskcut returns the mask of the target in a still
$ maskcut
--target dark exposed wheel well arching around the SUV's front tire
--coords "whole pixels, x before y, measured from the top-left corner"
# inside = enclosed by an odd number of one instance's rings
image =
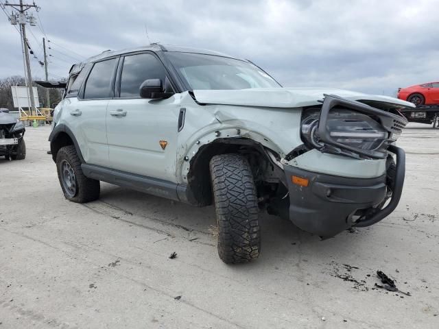
[[[245,156],[252,167],[255,180],[263,180],[268,167],[274,167],[263,145],[248,138],[218,138],[212,143],[203,145],[189,162],[187,184],[197,206],[212,204],[211,174],[209,162],[219,154],[239,153]],[[271,168],[274,170],[273,168]]]

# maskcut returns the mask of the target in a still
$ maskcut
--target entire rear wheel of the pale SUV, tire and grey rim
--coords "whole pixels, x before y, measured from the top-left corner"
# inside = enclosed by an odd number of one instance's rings
[[[56,154],[56,169],[66,199],[79,204],[99,199],[99,180],[84,176],[75,146],[69,145],[59,149]]]

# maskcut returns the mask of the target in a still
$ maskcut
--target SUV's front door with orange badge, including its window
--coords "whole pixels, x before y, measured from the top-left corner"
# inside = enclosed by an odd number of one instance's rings
[[[119,66],[106,115],[110,167],[176,182],[178,97],[154,100],[139,94],[147,79],[165,83],[165,67],[149,52],[125,56]]]

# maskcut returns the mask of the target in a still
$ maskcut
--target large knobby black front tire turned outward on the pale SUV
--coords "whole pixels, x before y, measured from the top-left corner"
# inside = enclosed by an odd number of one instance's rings
[[[239,154],[222,154],[213,156],[210,171],[219,226],[219,258],[226,264],[258,258],[259,208],[250,164]]]

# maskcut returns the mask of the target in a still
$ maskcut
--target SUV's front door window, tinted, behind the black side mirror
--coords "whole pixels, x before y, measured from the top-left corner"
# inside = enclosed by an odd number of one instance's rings
[[[163,64],[150,53],[126,56],[123,60],[120,97],[140,97],[140,85],[147,79],[161,79],[165,86],[166,71]]]

